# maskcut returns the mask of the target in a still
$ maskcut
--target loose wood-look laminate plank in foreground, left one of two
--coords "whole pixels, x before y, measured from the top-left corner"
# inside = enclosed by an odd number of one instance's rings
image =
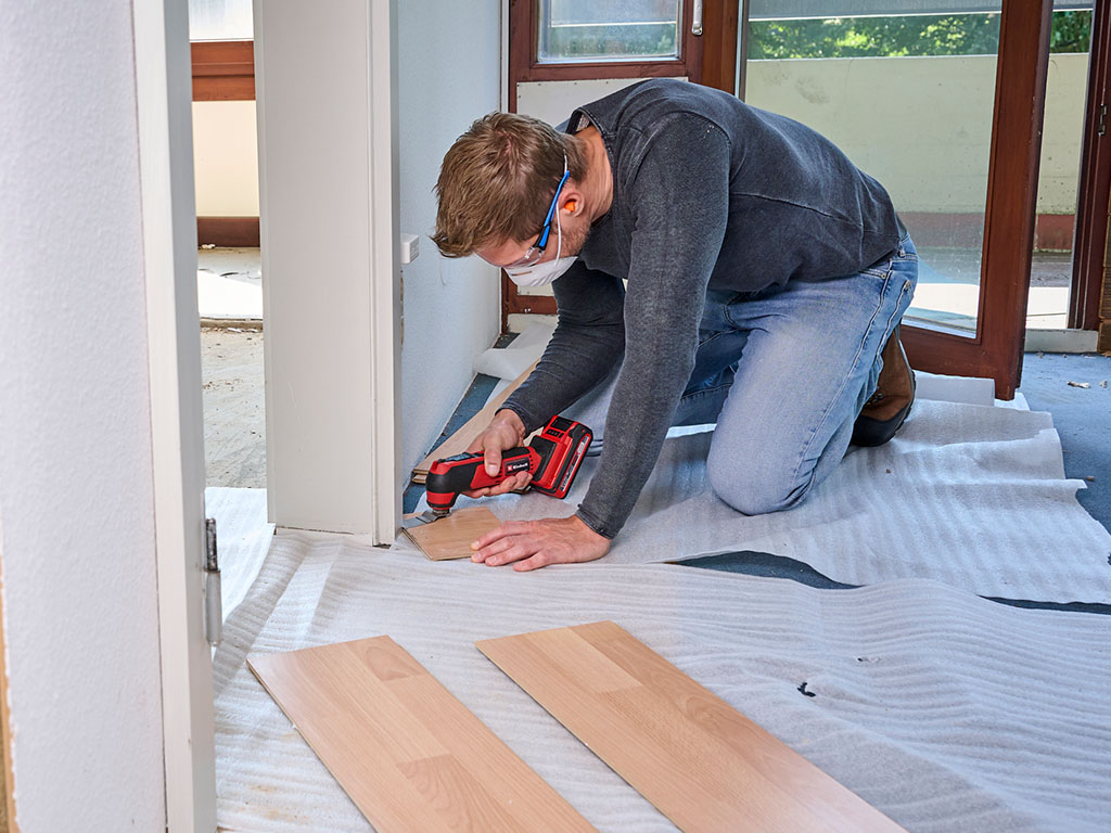
[[[378,833],[594,830],[389,636],[247,661]]]

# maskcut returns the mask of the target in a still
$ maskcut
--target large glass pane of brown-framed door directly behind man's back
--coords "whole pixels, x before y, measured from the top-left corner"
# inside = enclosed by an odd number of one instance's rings
[[[1000,12],[915,6],[753,0],[745,100],[814,128],[883,183],[919,251],[908,320],[973,335]],[[788,8],[805,17],[779,17]]]

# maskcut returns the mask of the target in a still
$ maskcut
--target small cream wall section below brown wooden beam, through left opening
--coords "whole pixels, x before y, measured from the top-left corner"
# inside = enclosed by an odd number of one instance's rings
[[[259,215],[253,101],[193,102],[198,217]]]

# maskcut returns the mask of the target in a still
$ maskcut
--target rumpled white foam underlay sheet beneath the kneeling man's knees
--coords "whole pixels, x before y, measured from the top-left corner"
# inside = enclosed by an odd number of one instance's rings
[[[804,562],[844,584],[918,578],[984,596],[1111,602],[1111,535],[1077,501],[1084,483],[1064,476],[1051,415],[1025,410],[1022,401],[992,405],[990,388],[984,398],[975,384],[985,381],[923,374],[925,390],[895,438],[875,449],[851,448],[834,473],[787,512],[734,512],[707,482],[709,426],[673,429],[605,561],[758,551]],[[962,398],[987,404],[944,401]],[[502,521],[570,515],[598,462],[583,462],[562,501],[532,492],[482,505]],[[468,502],[461,498],[459,505]],[[423,500],[419,509],[427,509]]]

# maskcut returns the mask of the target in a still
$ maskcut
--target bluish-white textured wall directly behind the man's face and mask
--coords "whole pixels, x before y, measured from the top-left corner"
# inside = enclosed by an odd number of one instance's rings
[[[500,3],[398,3],[401,230],[421,235],[404,267],[401,351],[402,462],[419,462],[473,377],[474,357],[500,324],[498,270],[478,258],[447,260],[429,240],[432,188],[443,154],[500,103]]]

